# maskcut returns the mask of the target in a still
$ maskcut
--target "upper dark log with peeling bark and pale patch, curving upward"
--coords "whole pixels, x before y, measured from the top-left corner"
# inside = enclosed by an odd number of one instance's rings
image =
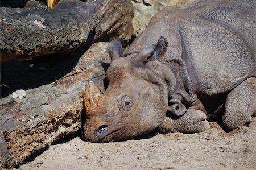
[[[1,7],[1,61],[74,51],[86,42],[108,6],[107,0],[63,0],[54,9]]]

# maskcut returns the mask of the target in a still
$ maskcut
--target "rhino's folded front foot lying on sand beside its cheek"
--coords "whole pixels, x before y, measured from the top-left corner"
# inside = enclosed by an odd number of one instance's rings
[[[160,132],[198,133],[210,128],[207,116],[201,110],[188,109],[179,119],[166,116],[159,126]]]

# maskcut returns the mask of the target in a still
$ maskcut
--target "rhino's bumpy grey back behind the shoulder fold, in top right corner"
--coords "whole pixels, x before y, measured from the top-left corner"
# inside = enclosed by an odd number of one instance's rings
[[[213,20],[232,28],[255,50],[255,9],[255,0],[203,0],[189,6],[186,10],[200,18]]]

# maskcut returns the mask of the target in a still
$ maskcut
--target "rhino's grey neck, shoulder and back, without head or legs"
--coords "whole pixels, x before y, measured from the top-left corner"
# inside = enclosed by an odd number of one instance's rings
[[[183,10],[166,7],[126,53],[164,36],[169,45],[163,59],[183,57],[196,93],[226,92],[256,76],[255,7],[255,1],[202,1]]]

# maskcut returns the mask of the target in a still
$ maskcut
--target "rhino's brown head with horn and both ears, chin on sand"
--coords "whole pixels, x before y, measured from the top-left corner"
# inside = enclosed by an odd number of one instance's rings
[[[108,52],[112,61],[106,72],[108,88],[100,94],[93,82],[86,86],[85,140],[126,140],[159,127],[166,116],[170,88],[164,78],[154,72],[154,64],[150,69],[148,63],[163,55],[166,46],[166,39],[160,38],[142,51],[122,57],[121,43],[110,42]],[[170,74],[168,83],[175,85],[175,77]]]

